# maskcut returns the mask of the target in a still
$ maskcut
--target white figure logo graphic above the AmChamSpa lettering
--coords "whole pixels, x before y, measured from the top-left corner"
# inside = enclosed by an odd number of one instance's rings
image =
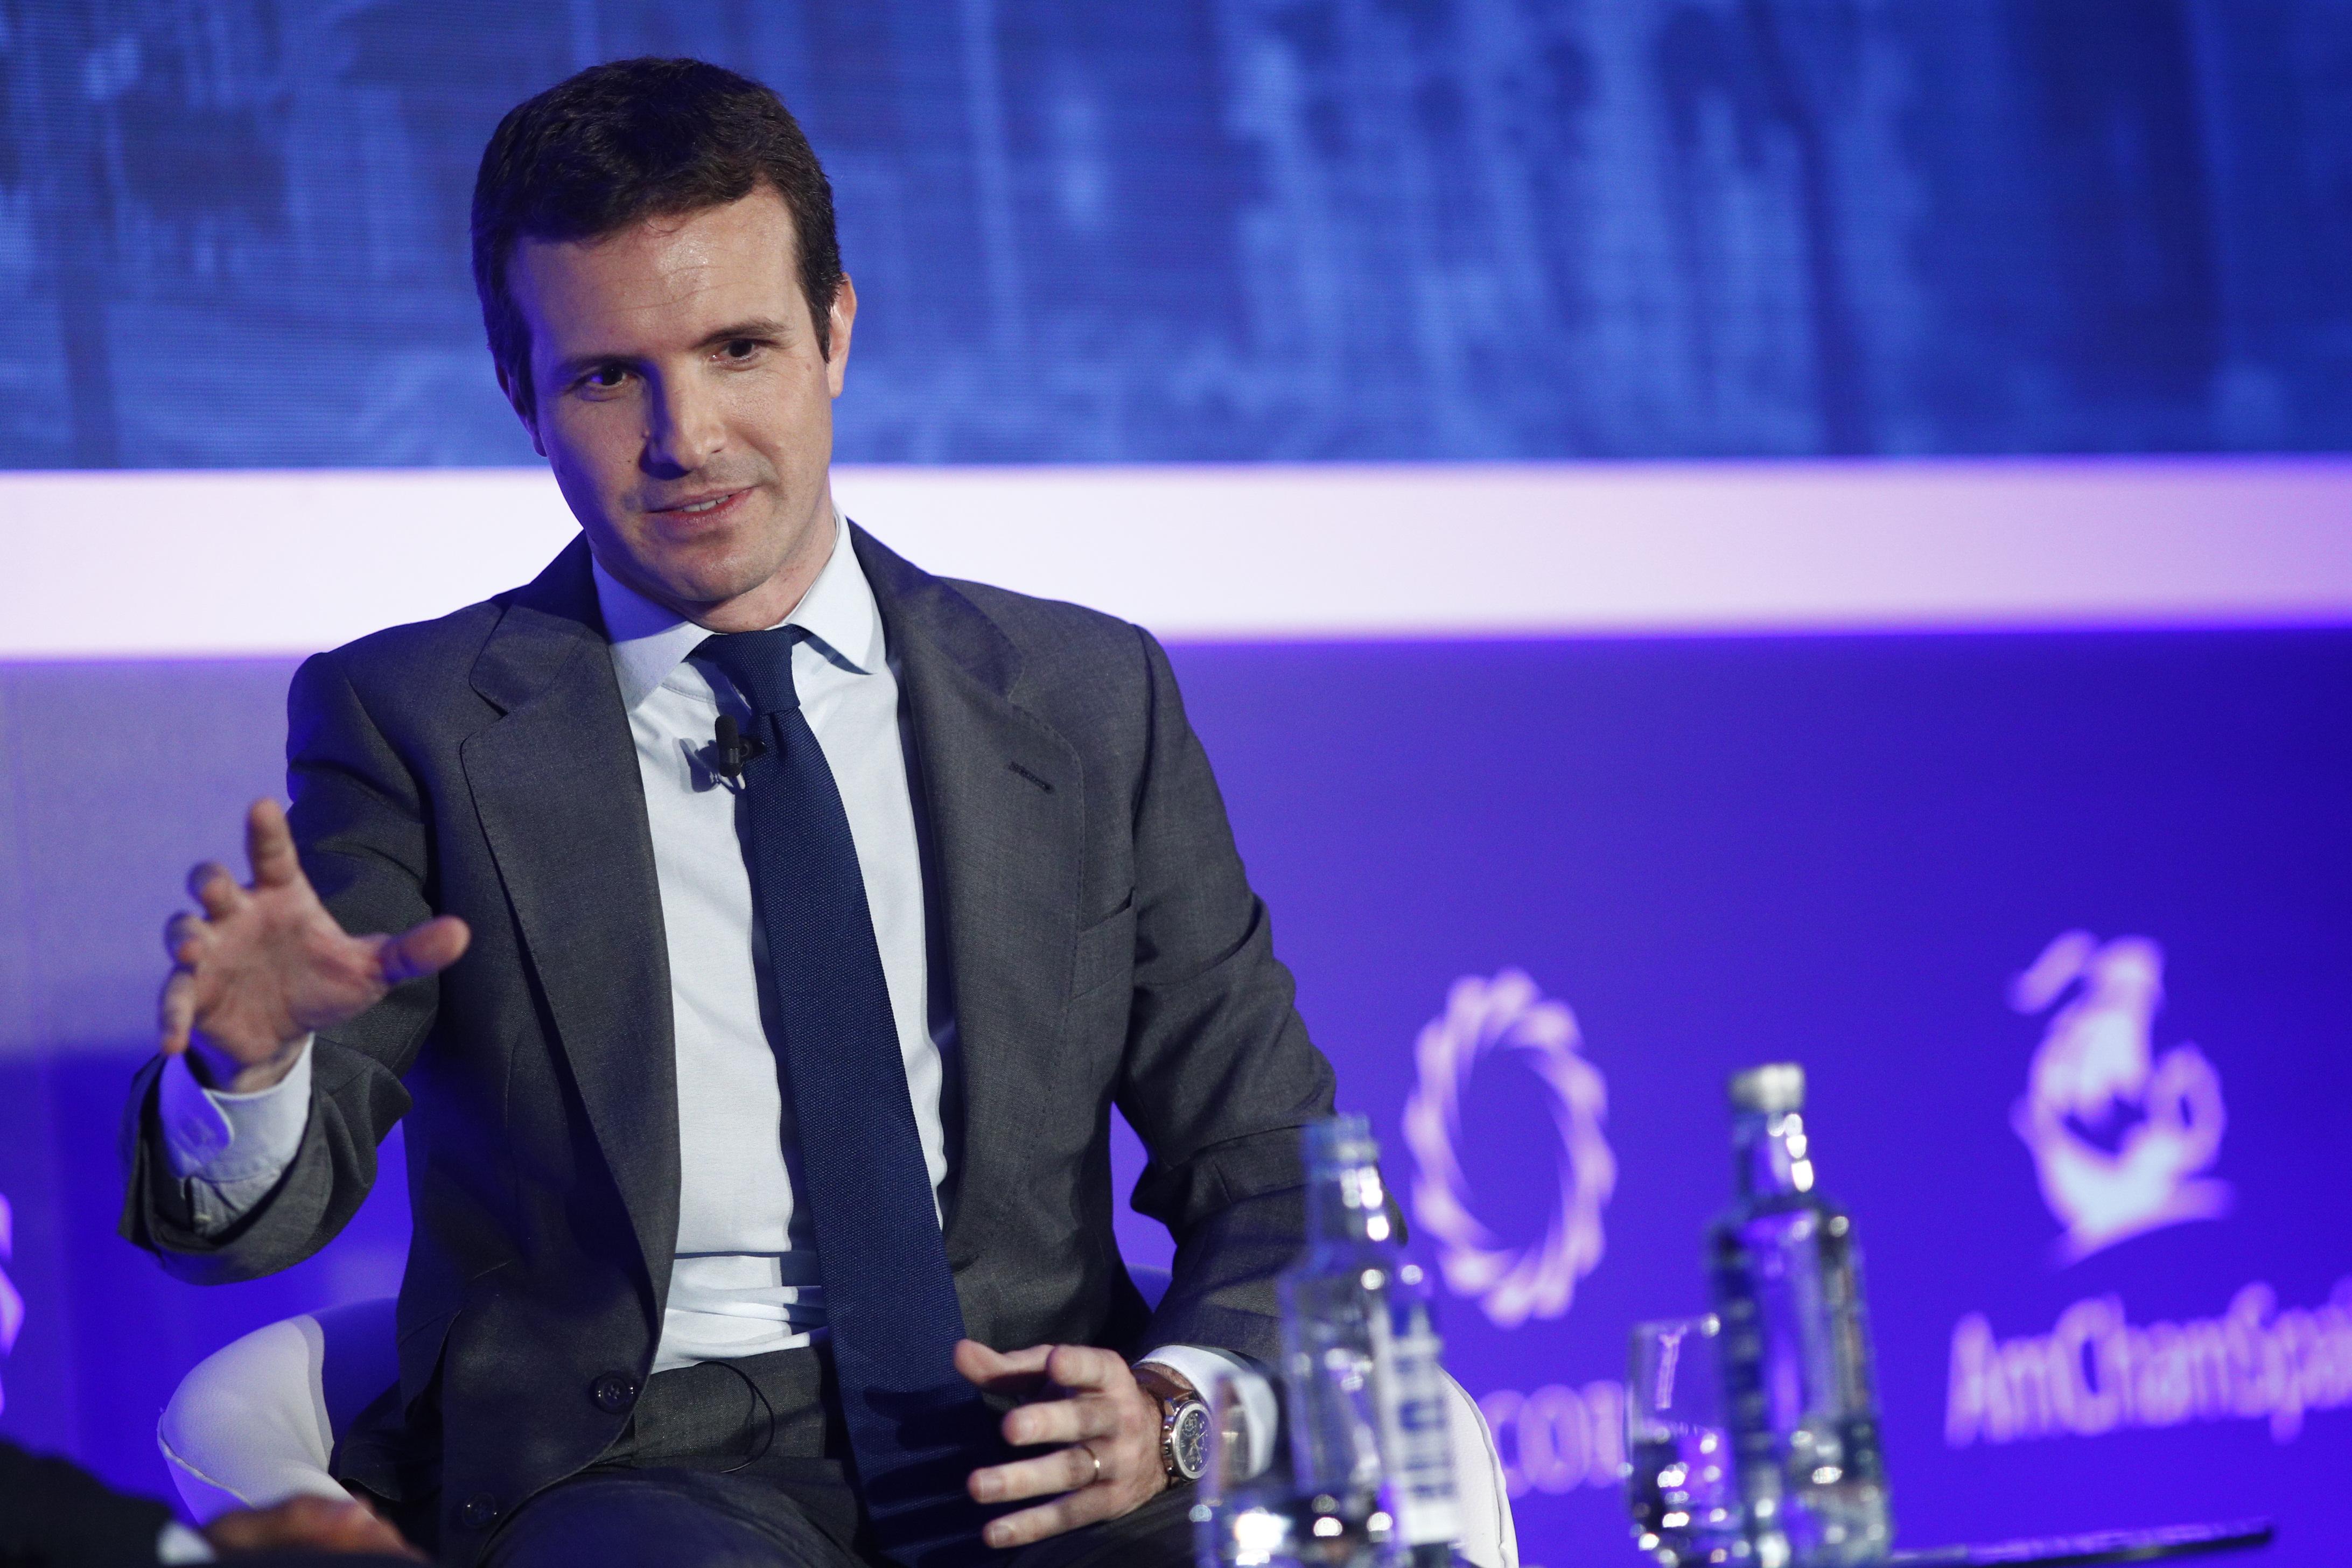
[[[2100,943],[2067,931],[2009,987],[2020,1013],[2053,1004],[2063,1006],[2042,1032],[2011,1126],[2065,1225],[2058,1265],[2230,1213],[2230,1182],[2199,1175],[2227,1124],[2220,1074],[2192,1044],[2154,1053],[2164,950],[2145,936]]]

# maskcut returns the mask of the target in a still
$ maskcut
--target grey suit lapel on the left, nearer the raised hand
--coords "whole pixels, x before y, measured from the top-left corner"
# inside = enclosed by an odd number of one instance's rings
[[[555,1041],[654,1288],[677,1246],[677,1065],[644,780],[586,541],[508,599],[473,668],[503,717],[459,757]]]

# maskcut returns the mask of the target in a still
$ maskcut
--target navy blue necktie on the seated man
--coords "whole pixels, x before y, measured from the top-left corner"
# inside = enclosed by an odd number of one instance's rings
[[[976,1554],[964,1493],[997,1462],[995,1415],[955,1371],[964,1312],[931,1206],[882,952],[833,769],[793,689],[804,632],[708,637],[696,651],[750,703],[743,860],[767,931],[776,1053],[826,1281],[826,1328],[873,1542],[901,1563]]]

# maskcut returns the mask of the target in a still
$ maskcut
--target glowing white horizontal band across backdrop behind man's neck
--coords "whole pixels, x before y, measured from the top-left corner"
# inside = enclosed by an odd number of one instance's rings
[[[837,468],[1169,639],[2352,623],[2352,461]],[[543,470],[0,475],[0,658],[306,654],[527,581]]]

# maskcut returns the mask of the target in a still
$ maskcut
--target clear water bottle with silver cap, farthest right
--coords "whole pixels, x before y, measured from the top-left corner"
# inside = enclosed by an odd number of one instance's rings
[[[1813,1185],[1804,1067],[1731,1079],[1738,1199],[1708,1237],[1724,1394],[1757,1568],[1872,1563],[1893,1542],[1853,1220]]]

